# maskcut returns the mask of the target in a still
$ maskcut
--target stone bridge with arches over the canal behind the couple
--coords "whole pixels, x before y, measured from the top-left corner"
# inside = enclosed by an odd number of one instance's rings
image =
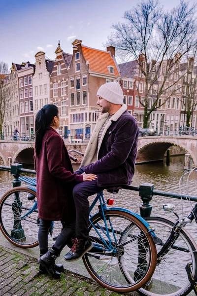
[[[164,153],[170,146],[179,146],[185,153],[190,153],[193,163],[197,166],[197,137],[193,136],[153,136],[140,137],[138,141],[137,163],[162,160]],[[67,149],[76,149],[84,152],[87,144],[69,145]],[[23,141],[0,141],[0,164],[33,163],[34,142]],[[73,154],[74,155],[74,154]],[[76,156],[79,161],[79,156]]]

